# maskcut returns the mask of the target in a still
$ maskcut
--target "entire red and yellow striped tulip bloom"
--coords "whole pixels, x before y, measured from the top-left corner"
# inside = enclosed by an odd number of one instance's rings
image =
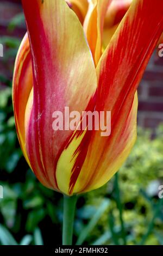
[[[103,52],[111,2],[22,0],[28,34],[13,79],[17,135],[40,182],[67,196],[103,186],[126,161],[136,140],[136,90],[163,31],[162,0],[133,0]],[[110,136],[54,131],[53,112],[65,107],[81,119],[85,110],[111,111]]]

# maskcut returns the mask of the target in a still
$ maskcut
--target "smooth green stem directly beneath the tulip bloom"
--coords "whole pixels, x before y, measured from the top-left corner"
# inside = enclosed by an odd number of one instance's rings
[[[74,213],[76,209],[77,196],[68,197],[64,195],[64,220],[62,230],[62,245],[72,245]]]

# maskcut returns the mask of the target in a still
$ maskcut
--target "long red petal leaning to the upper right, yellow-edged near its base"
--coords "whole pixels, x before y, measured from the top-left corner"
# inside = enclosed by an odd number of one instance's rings
[[[135,0],[97,66],[97,111],[111,111],[111,135],[94,131],[82,168],[72,172],[71,193],[104,185],[121,167],[136,138],[136,89],[163,31],[163,2]],[[135,97],[134,97],[135,95]],[[79,161],[78,157],[76,163]],[[76,164],[75,163],[75,164]]]

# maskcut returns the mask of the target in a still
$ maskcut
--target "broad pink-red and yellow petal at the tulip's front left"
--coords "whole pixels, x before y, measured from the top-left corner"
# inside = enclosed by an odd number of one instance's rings
[[[97,89],[96,69],[83,27],[65,0],[22,3],[34,86],[26,110],[26,148],[37,178],[43,175],[49,187],[59,190],[57,161],[73,131],[54,131],[53,113],[64,113],[65,107],[82,113]]]

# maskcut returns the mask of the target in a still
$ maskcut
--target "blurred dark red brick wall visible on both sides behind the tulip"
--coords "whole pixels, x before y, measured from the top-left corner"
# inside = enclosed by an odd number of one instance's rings
[[[0,0],[0,36],[23,37],[26,32],[24,27],[16,28],[14,32],[9,32],[7,29],[12,17],[21,11],[20,0]],[[0,62],[0,72],[12,77],[12,72],[9,72],[8,67],[2,65],[2,62]],[[163,57],[160,58],[157,53],[153,54],[139,87],[138,123],[142,127],[153,129],[163,123]]]

